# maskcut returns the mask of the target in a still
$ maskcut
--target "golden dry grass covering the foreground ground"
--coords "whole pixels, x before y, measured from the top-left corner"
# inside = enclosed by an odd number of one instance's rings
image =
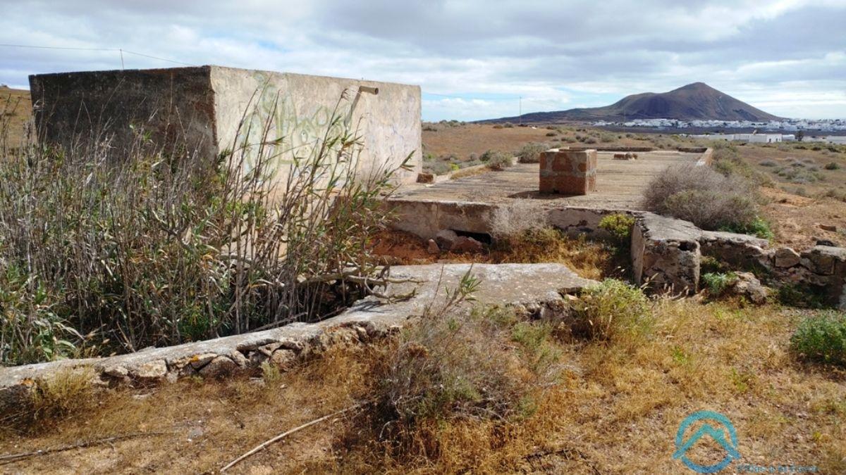
[[[766,306],[660,301],[651,337],[638,345],[558,341],[555,385],[529,417],[422,424],[411,440],[435,442],[400,456],[372,437],[361,415],[332,421],[244,461],[234,472],[679,472],[673,437],[690,412],[731,419],[743,462],[846,470],[846,374],[804,366],[788,352],[802,315]],[[515,346],[516,347],[516,346]],[[32,472],[213,471],[250,446],[371,394],[384,354],[337,350],[262,387],[249,380],[149,392],[115,391],[99,408],[49,434],[8,435],[3,453],[161,430],[10,464]],[[355,443],[352,443],[352,441]],[[693,455],[706,461],[708,447]]]

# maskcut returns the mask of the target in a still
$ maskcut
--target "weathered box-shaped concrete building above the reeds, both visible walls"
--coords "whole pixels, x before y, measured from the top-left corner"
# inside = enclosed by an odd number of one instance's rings
[[[410,154],[412,170],[398,180],[414,182],[420,172],[419,86],[201,66],[37,74],[30,89],[42,139],[65,146],[105,133],[118,153],[144,129],[157,145],[185,145],[214,160],[241,145],[236,134],[255,143],[267,128],[269,139],[284,139],[277,157],[283,172],[291,150],[304,153],[337,114],[364,142],[363,171]]]

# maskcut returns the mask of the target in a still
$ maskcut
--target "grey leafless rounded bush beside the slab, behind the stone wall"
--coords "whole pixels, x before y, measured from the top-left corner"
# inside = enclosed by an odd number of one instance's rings
[[[755,188],[710,167],[667,167],[644,192],[643,205],[708,230],[750,227],[759,216]]]

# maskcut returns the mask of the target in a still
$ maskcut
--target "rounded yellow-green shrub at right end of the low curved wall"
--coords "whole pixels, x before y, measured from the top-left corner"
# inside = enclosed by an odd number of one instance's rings
[[[585,288],[574,303],[574,334],[591,340],[632,342],[651,333],[655,319],[638,287],[606,279]]]

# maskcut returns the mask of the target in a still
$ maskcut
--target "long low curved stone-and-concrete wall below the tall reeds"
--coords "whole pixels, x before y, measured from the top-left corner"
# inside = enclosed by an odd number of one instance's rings
[[[329,347],[376,341],[404,328],[426,308],[444,301],[468,271],[481,280],[474,297],[484,305],[518,308],[530,315],[560,308],[563,296],[577,294],[596,281],[577,276],[560,264],[409,265],[393,267],[387,294],[414,291],[404,301],[365,298],[343,314],[316,323],[291,323],[277,329],[223,336],[173,347],[149,348],[107,358],[60,360],[0,369],[0,411],[25,401],[39,379],[65,371],[89,372],[98,386],[144,386],[185,377],[220,377],[255,372],[268,362],[282,370],[316,358]]]

